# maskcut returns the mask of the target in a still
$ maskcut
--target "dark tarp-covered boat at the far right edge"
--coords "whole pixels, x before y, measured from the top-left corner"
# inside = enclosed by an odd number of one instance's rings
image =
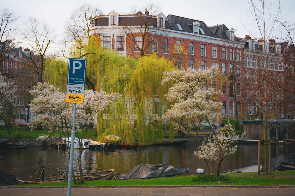
[[[277,158],[271,160],[271,164],[274,168],[280,171],[294,170],[295,169],[295,153],[289,155],[280,155]]]

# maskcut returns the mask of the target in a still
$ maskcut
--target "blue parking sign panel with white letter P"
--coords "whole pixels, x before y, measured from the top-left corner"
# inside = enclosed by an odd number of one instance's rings
[[[70,58],[68,84],[85,85],[86,59]]]

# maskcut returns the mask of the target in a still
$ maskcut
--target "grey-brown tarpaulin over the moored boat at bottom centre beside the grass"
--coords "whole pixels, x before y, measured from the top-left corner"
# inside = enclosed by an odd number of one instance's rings
[[[126,173],[115,174],[114,177],[117,180],[168,177],[179,175],[187,171],[189,171],[188,168],[178,169],[168,163],[160,165],[140,164]]]

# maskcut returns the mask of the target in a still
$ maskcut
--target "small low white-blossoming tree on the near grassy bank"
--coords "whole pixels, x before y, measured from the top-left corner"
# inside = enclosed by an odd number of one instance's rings
[[[227,124],[217,134],[214,134],[213,137],[209,136],[201,142],[200,150],[195,151],[194,155],[209,162],[212,172],[219,176],[222,161],[237,151],[237,145],[233,146],[233,144],[237,143],[239,138],[240,135],[235,134],[235,128],[227,121]],[[209,168],[208,171],[210,173]]]

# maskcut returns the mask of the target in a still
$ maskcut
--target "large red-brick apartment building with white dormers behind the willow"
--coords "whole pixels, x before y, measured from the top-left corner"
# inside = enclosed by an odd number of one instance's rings
[[[228,79],[222,84],[226,94],[222,98],[222,114],[235,118],[236,113],[243,111],[240,87],[245,46],[245,42],[235,36],[236,31],[224,24],[208,27],[203,21],[174,15],[166,17],[163,13],[151,16],[146,11],[145,14],[120,15],[112,11],[94,17],[90,33],[100,36],[103,48],[118,51],[122,56],[137,57],[157,52],[158,56],[176,59],[176,67],[182,69],[204,70],[219,66]]]

